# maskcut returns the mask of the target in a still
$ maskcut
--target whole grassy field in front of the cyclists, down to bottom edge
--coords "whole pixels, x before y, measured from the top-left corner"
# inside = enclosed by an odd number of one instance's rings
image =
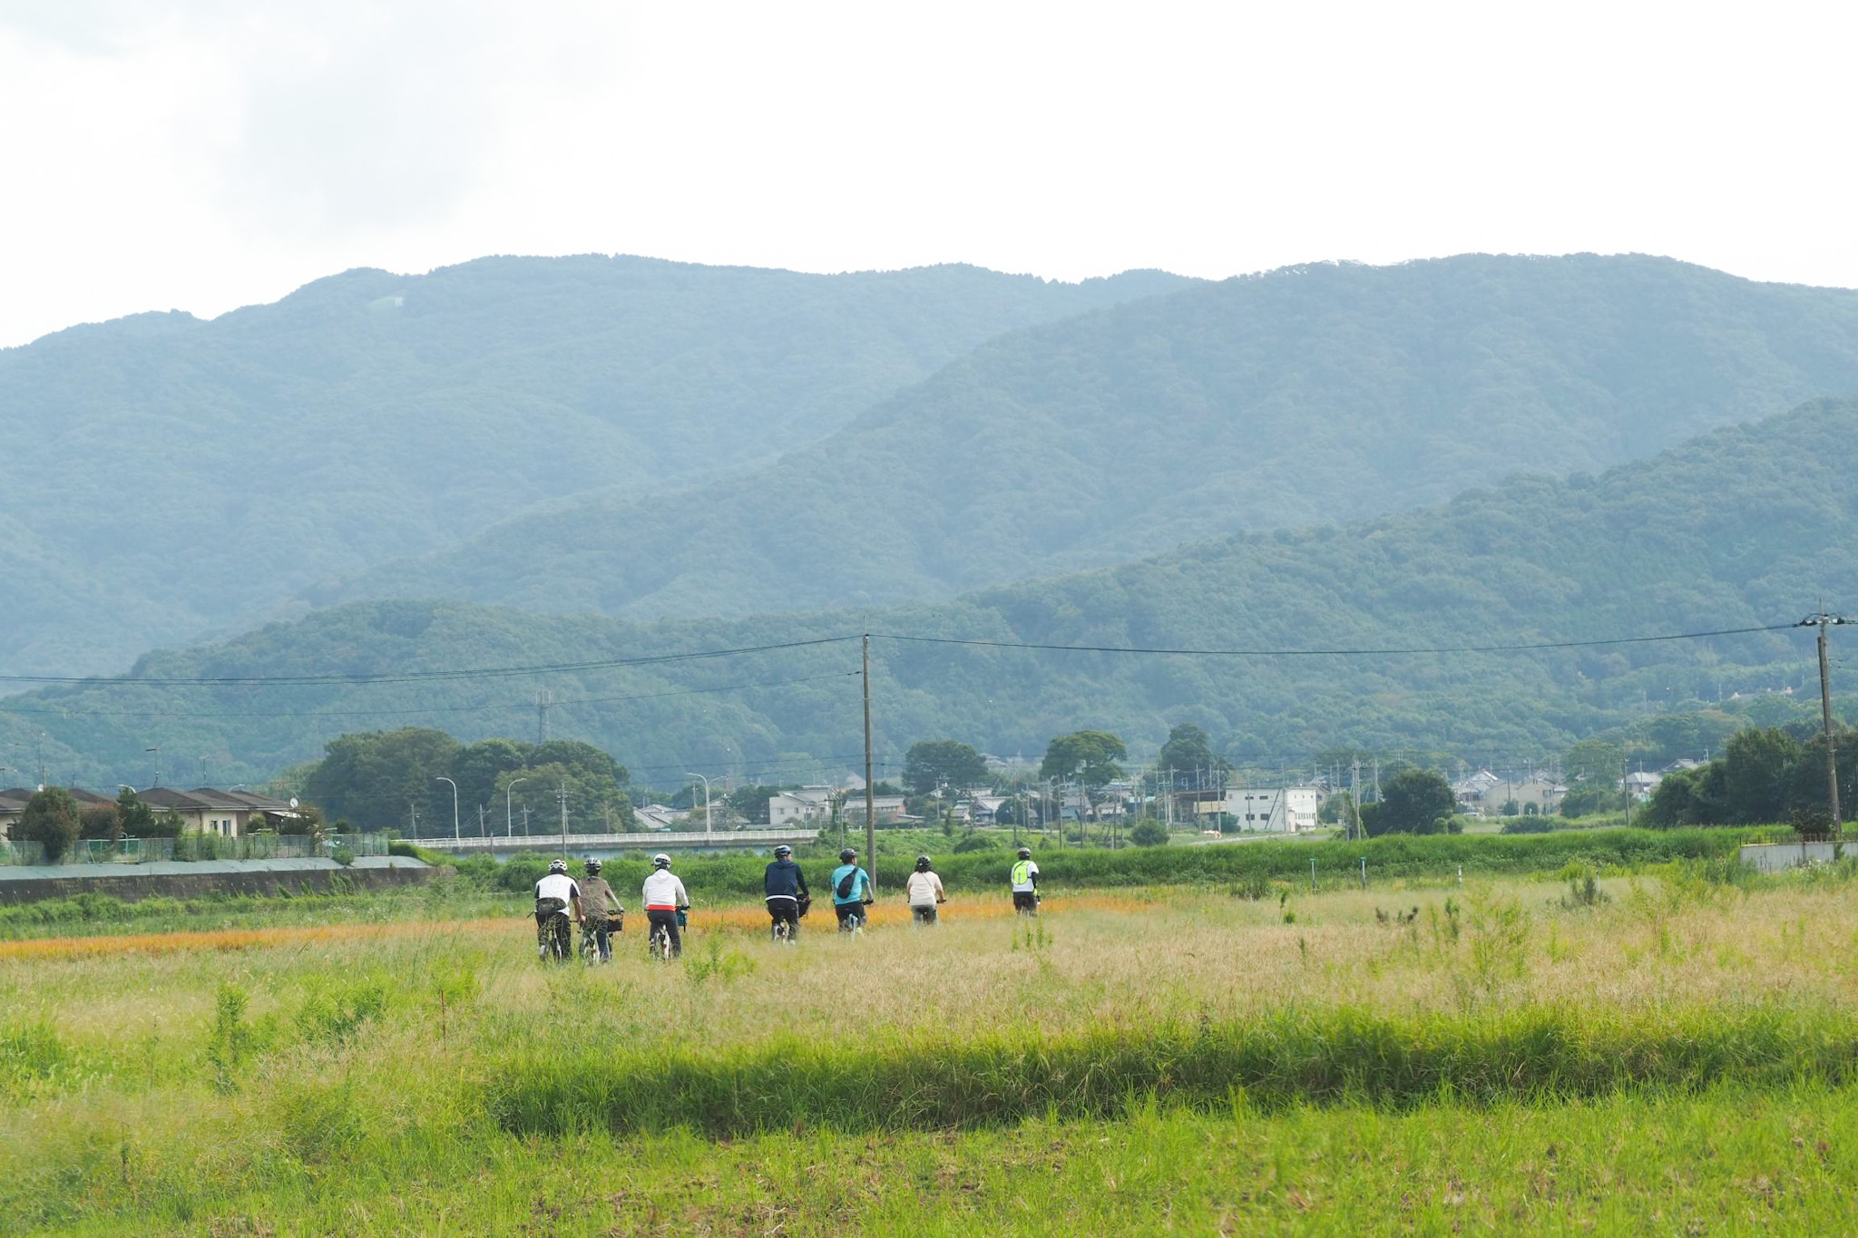
[[[1722,876],[0,943],[0,1231],[1849,1232],[1851,874]]]

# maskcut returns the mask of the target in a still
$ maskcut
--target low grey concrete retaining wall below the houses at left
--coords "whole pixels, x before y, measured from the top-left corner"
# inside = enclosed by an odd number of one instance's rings
[[[301,865],[301,867],[299,867]],[[314,865],[314,867],[312,867]],[[0,869],[0,904],[110,895],[124,902],[141,898],[201,898],[204,895],[327,895],[338,889],[392,889],[427,882],[438,869],[418,859],[392,858],[344,869],[334,861],[219,861],[212,865],[137,865],[119,870],[102,865]],[[162,869],[160,872],[152,869]],[[173,872],[171,869],[182,869]]]

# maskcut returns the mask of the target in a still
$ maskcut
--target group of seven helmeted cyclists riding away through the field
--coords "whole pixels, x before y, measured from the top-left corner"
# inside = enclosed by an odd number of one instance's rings
[[[602,963],[613,960],[613,934],[624,930],[626,908],[619,895],[600,876],[600,861],[585,863],[585,876],[576,882],[569,876],[565,859],[552,859],[548,872],[535,882],[535,945],[544,960],[569,960],[574,956],[570,924],[582,926],[583,941],[591,956]],[[1018,848],[1009,872],[1013,885],[1013,909],[1020,915],[1039,915],[1039,865],[1031,848]],[[793,863],[793,848],[780,845],[775,848],[775,861],[762,874],[765,891],[769,932],[775,939],[797,941],[801,917],[812,904],[812,891],[806,887],[806,874]],[[838,932],[853,934],[864,928],[866,908],[871,896],[871,874],[858,867],[858,852],[845,848],[838,854],[838,867],[829,878],[832,893],[832,913],[838,917]],[[645,919],[650,932],[660,928],[671,939],[671,958],[684,952],[684,937],[678,932],[689,911],[689,895],[684,882],[671,872],[671,856],[663,852],[652,856],[652,872],[641,889],[645,900]],[[903,883],[903,896],[910,908],[910,921],[918,926],[935,924],[940,904],[948,902],[942,878],[936,876],[927,856],[916,858],[916,869]]]

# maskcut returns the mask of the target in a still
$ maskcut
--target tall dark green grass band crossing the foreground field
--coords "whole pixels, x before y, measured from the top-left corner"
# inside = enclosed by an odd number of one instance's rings
[[[1063,1038],[1009,1026],[959,1039],[630,1051],[595,1034],[492,1058],[485,1091],[511,1134],[689,1125],[738,1138],[793,1125],[862,1132],[1040,1115],[1115,1121],[1152,1103],[1200,1112],[1234,1103],[1555,1104],[1719,1078],[1786,1086],[1854,1077],[1858,1025],[1826,1008],[1425,1017],[1330,1008]]]

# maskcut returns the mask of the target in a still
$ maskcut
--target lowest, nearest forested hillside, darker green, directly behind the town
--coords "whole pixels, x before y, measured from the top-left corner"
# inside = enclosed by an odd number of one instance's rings
[[[1239,535],[1135,564],[942,605],[635,625],[459,601],[357,603],[141,659],[137,677],[386,674],[368,685],[74,685],[0,705],[0,744],[50,731],[54,770],[147,781],[206,759],[217,778],[318,755],[353,729],[461,739],[552,733],[600,744],[634,781],[684,770],[814,778],[860,746],[857,633],[873,638],[879,748],[959,737],[1037,754],[1111,729],[1137,752],[1197,722],[1239,763],[1295,768],[1336,744],[1559,752],[1654,711],[1734,692],[1812,690],[1804,633],[1507,653],[1133,657],[903,642],[940,637],[1191,650],[1514,646],[1789,624],[1858,598],[1858,401],[1724,427],[1600,477],[1525,477],[1444,507],[1343,527]],[[485,679],[453,668],[661,657],[844,637],[758,653]],[[1838,633],[1843,644],[1843,633]],[[1845,663],[1839,670],[1841,687]],[[1786,700],[1786,698],[1761,698]],[[1771,718],[1761,718],[1771,720]],[[19,752],[19,750],[15,750]]]

